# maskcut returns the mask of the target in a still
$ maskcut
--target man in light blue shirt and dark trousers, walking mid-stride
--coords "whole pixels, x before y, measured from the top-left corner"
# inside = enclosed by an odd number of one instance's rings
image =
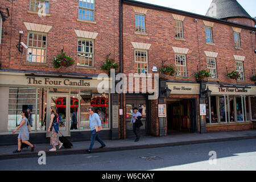
[[[97,113],[94,113],[93,108],[89,108],[89,123],[90,123],[90,147],[89,150],[87,150],[88,153],[92,151],[95,139],[97,139],[98,142],[100,142],[101,147],[106,147],[105,143],[102,142],[101,138],[98,137],[98,131],[96,131],[96,127],[98,127],[99,130],[101,130],[101,120]]]

